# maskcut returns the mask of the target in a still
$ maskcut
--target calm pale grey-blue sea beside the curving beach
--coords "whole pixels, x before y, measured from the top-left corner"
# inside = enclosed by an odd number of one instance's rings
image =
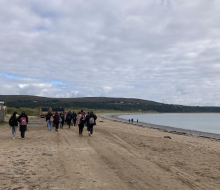
[[[137,119],[139,122],[220,133],[220,114],[140,114],[120,115],[122,119]]]

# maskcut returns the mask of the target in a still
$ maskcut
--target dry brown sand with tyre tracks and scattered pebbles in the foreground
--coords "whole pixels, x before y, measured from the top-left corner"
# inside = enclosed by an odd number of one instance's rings
[[[0,189],[219,190],[220,141],[100,117],[79,137],[33,117],[24,140],[0,126]]]

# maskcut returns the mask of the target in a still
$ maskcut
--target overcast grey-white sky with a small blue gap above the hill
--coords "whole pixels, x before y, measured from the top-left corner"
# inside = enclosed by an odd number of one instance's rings
[[[1,0],[0,94],[220,106],[219,0]]]

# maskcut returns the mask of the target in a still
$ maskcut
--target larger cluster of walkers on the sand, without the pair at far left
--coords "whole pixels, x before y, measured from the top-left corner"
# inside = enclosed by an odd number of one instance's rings
[[[79,127],[79,136],[83,136],[83,129],[85,125],[87,126],[89,136],[92,136],[93,126],[96,125],[96,119],[97,116],[93,112],[85,114],[83,110],[81,110],[78,115],[69,111],[67,114],[65,112],[56,112],[55,115],[48,112],[46,116],[48,131],[51,131],[52,126],[55,126],[56,131],[58,132],[59,125],[60,128],[63,128],[64,123],[66,123],[70,128],[73,124],[74,126],[78,125]]]

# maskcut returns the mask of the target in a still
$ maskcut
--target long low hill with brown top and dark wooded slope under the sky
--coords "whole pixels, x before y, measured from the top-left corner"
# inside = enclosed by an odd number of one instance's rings
[[[0,95],[9,107],[75,107],[89,109],[108,109],[120,111],[156,111],[161,113],[198,113],[220,112],[220,107],[199,107],[164,104],[134,98],[84,97],[84,98],[47,98],[28,95]]]

